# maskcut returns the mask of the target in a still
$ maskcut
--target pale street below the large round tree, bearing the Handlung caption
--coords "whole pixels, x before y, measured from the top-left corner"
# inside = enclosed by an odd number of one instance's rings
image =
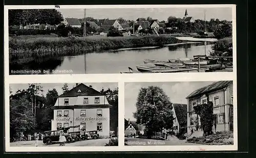
[[[125,138],[125,143],[129,146],[160,146],[160,145],[202,145],[194,143],[186,143],[186,140],[153,140],[141,138]]]

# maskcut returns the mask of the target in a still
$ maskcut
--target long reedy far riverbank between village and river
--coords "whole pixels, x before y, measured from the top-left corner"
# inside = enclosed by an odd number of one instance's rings
[[[129,37],[38,37],[9,39],[9,58],[48,57],[69,55],[72,52],[90,52],[127,47],[163,46],[178,43],[171,35]]]

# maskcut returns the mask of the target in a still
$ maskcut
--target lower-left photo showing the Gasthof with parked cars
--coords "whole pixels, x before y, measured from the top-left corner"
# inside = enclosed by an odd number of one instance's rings
[[[117,83],[9,88],[10,147],[118,146]]]

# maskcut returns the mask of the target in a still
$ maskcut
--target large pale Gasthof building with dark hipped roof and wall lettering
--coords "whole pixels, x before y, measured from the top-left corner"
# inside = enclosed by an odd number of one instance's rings
[[[58,96],[52,108],[52,130],[80,125],[82,130],[97,130],[100,136],[109,137],[111,107],[105,95],[92,86],[76,84],[76,87]]]

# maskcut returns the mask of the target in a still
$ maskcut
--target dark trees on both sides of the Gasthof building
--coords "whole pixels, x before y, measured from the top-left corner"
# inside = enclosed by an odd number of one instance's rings
[[[40,84],[29,84],[27,89],[17,90],[12,94],[10,88],[10,138],[17,137],[21,131],[24,135],[32,134],[35,131],[44,132],[51,130],[51,109],[59,94],[55,88],[48,90],[46,96],[40,95],[43,92]],[[62,92],[69,90],[68,84],[64,84]],[[117,132],[118,126],[118,88],[102,90],[109,103],[113,106],[110,109],[111,129]]]

